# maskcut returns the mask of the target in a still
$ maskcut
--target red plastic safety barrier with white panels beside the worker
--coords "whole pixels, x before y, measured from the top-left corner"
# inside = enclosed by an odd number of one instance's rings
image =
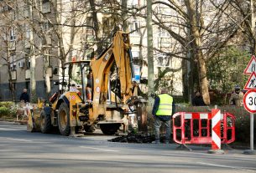
[[[173,140],[181,145],[212,144],[212,113],[178,112],[173,115]],[[235,116],[221,114],[222,144],[235,140]]]

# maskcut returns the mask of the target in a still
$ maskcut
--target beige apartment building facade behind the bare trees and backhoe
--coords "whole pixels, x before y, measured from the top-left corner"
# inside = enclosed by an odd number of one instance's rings
[[[37,8],[34,9],[29,0],[6,2],[4,0],[0,1],[0,14],[3,16],[0,19],[0,24],[1,28],[6,31],[3,35],[0,34],[2,40],[0,43],[5,43],[0,48],[2,56],[0,59],[2,66],[0,69],[0,100],[11,99],[10,88],[12,86],[16,100],[18,100],[24,88],[30,89],[30,61],[32,58],[35,59],[36,95],[45,98],[45,73],[50,74],[50,93],[59,89],[54,83],[61,79],[60,60],[91,59],[94,57],[97,50],[96,41],[98,40],[95,36],[95,26],[91,10],[89,10],[91,9],[89,3],[68,0],[62,0],[61,3],[59,1],[38,0],[35,1],[34,6]],[[130,10],[133,10],[146,5],[146,1],[128,0],[127,5]],[[153,8],[158,10],[159,13],[170,13],[170,9],[160,6]],[[111,38],[109,36],[107,38],[110,28],[104,26],[112,26],[113,23],[116,23],[113,12],[120,13],[120,10],[111,11],[110,13],[109,9],[104,7],[101,11],[97,11],[97,22],[103,26],[101,28],[103,48],[109,45]],[[170,20],[170,18],[163,19]],[[31,23],[32,21],[33,23]],[[128,23],[127,32],[130,32],[130,40],[133,44],[132,53],[135,69],[140,78],[147,79],[145,18],[128,15],[126,21]],[[122,25],[122,23],[119,23],[119,25]],[[158,26],[154,26],[153,30],[156,49],[162,52],[170,52],[172,46],[175,46],[170,35]],[[155,78],[158,78],[159,70],[167,67],[179,69],[180,65],[180,59],[175,59],[154,50]],[[57,74],[54,73],[56,68],[59,69]],[[11,76],[8,75],[8,71],[10,71]],[[172,94],[182,94],[181,76],[181,70],[166,74],[161,83],[169,86],[172,89]]]

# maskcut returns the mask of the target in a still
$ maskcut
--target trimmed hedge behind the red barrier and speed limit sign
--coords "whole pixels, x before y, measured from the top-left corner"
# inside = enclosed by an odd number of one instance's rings
[[[209,112],[214,107],[209,106],[187,106],[185,104],[178,104],[176,112]],[[248,144],[250,142],[250,114],[243,107],[237,106],[220,106],[217,107],[221,111],[226,111],[236,117],[235,130],[236,142]],[[254,115],[254,144],[256,144],[256,116]]]

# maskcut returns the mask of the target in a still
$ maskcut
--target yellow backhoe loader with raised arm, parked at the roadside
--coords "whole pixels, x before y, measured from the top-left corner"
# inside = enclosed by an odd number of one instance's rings
[[[81,127],[92,131],[99,125],[103,134],[113,135],[121,125],[128,125],[128,114],[141,113],[137,111],[141,109],[140,99],[132,93],[137,85],[132,81],[133,57],[128,33],[114,33],[112,44],[97,59],[72,61],[65,66],[69,69],[68,78],[63,77],[60,84],[67,83],[68,90],[55,93],[50,106],[44,106],[38,117],[32,110],[28,131],[38,128],[42,133],[50,133],[53,127],[58,127],[61,135],[72,135]],[[92,98],[88,100],[86,73],[90,70]],[[72,78],[73,74],[80,74],[81,79]],[[76,86],[81,84],[80,89],[71,89],[75,82]]]

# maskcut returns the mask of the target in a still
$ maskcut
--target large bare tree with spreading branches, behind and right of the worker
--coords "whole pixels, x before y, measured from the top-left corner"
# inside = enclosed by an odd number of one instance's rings
[[[169,0],[155,1],[153,4],[155,5],[153,23],[167,31],[171,36],[170,39],[175,39],[179,43],[172,52],[168,49],[154,49],[191,62],[191,70],[196,64],[198,86],[206,104],[210,104],[206,61],[211,59],[219,48],[227,45],[238,31],[237,25],[227,21],[227,18],[220,18],[228,3],[222,1],[212,4],[207,0],[185,0],[177,3],[175,0]],[[166,9],[169,9],[170,13],[163,13],[167,11]],[[144,16],[141,14],[141,17]],[[218,18],[220,20],[217,20]],[[217,29],[220,24],[222,27]],[[222,38],[217,39],[218,35],[222,35]]]

